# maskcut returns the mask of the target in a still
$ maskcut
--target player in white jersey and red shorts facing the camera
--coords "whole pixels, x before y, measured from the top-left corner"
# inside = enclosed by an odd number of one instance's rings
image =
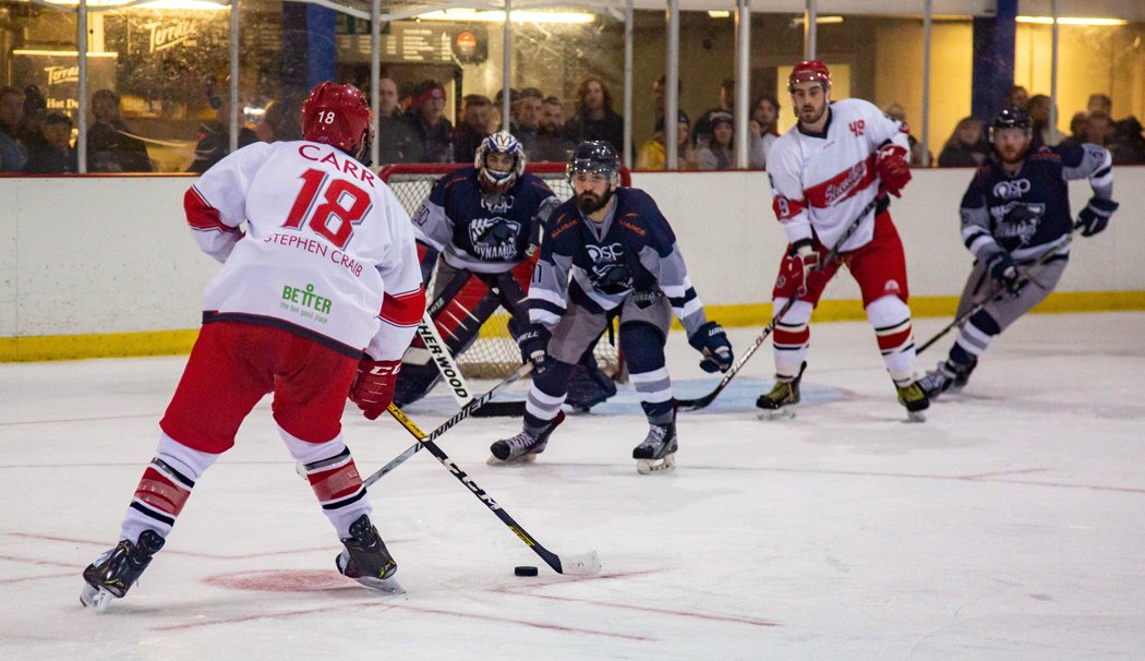
[[[862,291],[867,317],[911,419],[930,404],[915,383],[915,340],[907,306],[902,242],[887,212],[887,194],[910,181],[907,127],[860,99],[831,102],[831,78],[819,60],[796,64],[788,79],[798,123],[767,158],[774,211],[789,245],[772,293],[775,310],[792,298],[775,324],[775,387],[756,406],[765,417],[791,414],[807,367],[808,321],[823,288],[846,266]],[[853,223],[858,228],[829,263],[815,269]]]

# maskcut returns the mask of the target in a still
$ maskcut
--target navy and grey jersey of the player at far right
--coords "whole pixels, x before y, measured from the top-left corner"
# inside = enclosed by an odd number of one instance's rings
[[[1009,174],[992,156],[962,197],[962,239],[982,261],[1008,251],[1017,262],[1042,254],[1073,231],[1069,189],[1061,182],[1088,178],[1095,195],[1110,198],[1113,162],[1096,144],[1043,147]],[[1069,251],[1066,245],[1061,254]]]

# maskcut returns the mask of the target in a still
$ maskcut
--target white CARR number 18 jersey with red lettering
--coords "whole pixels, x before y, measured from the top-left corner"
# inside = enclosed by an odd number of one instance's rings
[[[409,346],[425,301],[409,215],[341,150],[245,147],[207,170],[184,206],[199,247],[223,262],[204,322],[279,326],[376,360]]]

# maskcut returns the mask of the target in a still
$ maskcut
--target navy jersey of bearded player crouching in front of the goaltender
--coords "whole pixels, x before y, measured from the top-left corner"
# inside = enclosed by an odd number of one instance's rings
[[[529,321],[554,325],[568,302],[609,312],[633,291],[658,288],[688,336],[708,322],[676,234],[647,192],[617,188],[600,230],[569,199],[548,218],[529,285]],[[572,278],[569,283],[569,274]]]

